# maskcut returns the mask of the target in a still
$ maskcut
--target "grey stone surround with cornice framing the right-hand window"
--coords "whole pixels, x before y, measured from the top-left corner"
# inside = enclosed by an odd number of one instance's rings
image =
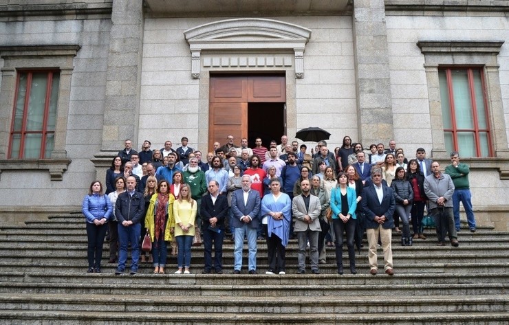
[[[503,41],[428,41],[417,42],[417,46],[424,55],[424,69],[429,93],[429,110],[431,125],[433,125],[433,156],[448,159],[445,148],[444,124],[442,122],[442,104],[438,80],[440,66],[477,66],[484,67],[486,80],[486,99],[488,101],[490,136],[497,159],[509,159],[507,148],[506,125],[501,98],[499,80],[499,63],[497,55]],[[473,161],[484,161],[484,158],[475,158]],[[501,179],[509,177],[509,166],[506,160],[504,166],[499,168]]]

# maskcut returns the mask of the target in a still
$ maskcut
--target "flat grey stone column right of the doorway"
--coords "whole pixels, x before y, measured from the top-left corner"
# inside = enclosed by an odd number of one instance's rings
[[[384,0],[354,1],[353,19],[359,139],[387,144],[394,135]]]

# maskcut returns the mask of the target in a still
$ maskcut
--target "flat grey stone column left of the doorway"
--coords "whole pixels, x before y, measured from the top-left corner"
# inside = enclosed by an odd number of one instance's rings
[[[143,1],[113,0],[102,145],[92,159],[98,179],[104,179],[102,170],[124,148],[124,139],[138,148],[143,23]]]

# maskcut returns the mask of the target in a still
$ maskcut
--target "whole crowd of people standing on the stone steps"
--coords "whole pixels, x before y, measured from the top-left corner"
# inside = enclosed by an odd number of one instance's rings
[[[191,273],[191,245],[197,232],[204,242],[202,273],[223,273],[222,245],[230,236],[235,243],[233,273],[241,273],[244,240],[248,243],[248,273],[257,274],[257,240],[266,240],[266,274],[285,274],[285,248],[291,238],[299,245],[297,273],[319,274],[327,263],[326,247],[334,246],[337,273],[343,274],[343,244],[349,256],[349,271],[357,273],[356,248],[366,235],[369,273],[378,272],[377,248],[381,245],[385,273],[392,276],[392,233],[401,233],[401,245],[425,240],[421,221],[427,206],[437,225],[437,245],[448,236],[457,247],[459,203],[466,210],[468,226],[475,232],[470,202],[469,168],[451,153],[451,166],[426,158],[424,148],[408,160],[396,142],[389,148],[371,144],[365,152],[360,143],[343,138],[333,151],[325,141],[311,153],[307,146],[281,137],[281,144],[262,146],[248,139],[241,146],[228,135],[206,154],[188,146],[182,137],[179,148],[171,141],[151,150],[146,140],[138,153],[131,140],[111,161],[105,189],[91,183],[83,200],[87,221],[89,273],[100,272],[102,243],[109,232],[109,262],[118,258],[116,274],[124,273],[131,248],[130,273],[139,262],[153,264],[153,273],[165,273],[169,247],[177,256],[176,274]],[[401,221],[401,229],[400,229]],[[412,231],[410,229],[412,224]],[[148,234],[151,254],[140,254],[140,240]],[[334,244],[333,244],[334,243]],[[214,249],[212,249],[214,247]],[[214,255],[214,256],[213,256]]]

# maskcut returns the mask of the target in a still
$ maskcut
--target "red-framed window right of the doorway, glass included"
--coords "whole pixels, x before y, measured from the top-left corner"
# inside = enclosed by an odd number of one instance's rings
[[[482,68],[439,69],[438,77],[446,150],[457,151],[462,157],[491,157]]]

